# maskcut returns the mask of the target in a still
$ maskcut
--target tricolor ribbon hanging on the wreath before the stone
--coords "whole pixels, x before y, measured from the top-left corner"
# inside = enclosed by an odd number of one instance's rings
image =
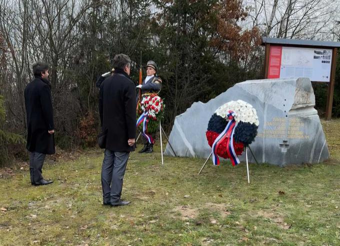
[[[219,158],[217,156],[217,148],[220,145],[220,143],[223,142],[224,139],[226,139],[226,152],[230,156],[232,166],[235,166],[239,163],[239,160],[233,148],[233,142],[232,142],[233,133],[234,133],[235,126],[236,126],[236,121],[234,119],[234,116],[235,116],[235,113],[232,110],[229,110],[229,113],[227,115],[227,117],[229,118],[229,122],[224,128],[224,130],[218,135],[218,137],[215,139],[215,141],[212,144],[212,147],[211,147],[212,162],[213,162],[213,165],[215,166],[219,165]]]

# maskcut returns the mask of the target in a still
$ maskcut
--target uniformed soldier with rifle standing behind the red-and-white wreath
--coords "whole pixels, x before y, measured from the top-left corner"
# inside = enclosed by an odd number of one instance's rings
[[[157,76],[157,64],[154,61],[146,63],[146,75],[142,84],[136,86],[141,89],[142,98],[150,94],[158,94],[161,89],[161,79]],[[155,133],[151,134],[153,139],[154,135]],[[151,153],[153,151],[153,143],[149,144],[146,138],[143,138],[143,143],[144,147],[138,153]]]

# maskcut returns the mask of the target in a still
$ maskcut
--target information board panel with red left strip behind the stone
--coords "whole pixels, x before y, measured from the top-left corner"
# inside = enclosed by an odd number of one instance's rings
[[[268,78],[306,77],[329,82],[331,49],[270,46]]]

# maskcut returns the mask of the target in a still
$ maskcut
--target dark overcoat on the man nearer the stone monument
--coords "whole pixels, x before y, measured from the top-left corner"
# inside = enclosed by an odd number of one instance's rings
[[[102,131],[107,129],[106,149],[118,152],[134,151],[127,140],[136,134],[135,85],[127,73],[115,69],[99,90],[99,114]]]

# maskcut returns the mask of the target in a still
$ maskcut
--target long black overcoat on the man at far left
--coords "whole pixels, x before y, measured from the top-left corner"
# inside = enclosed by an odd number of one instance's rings
[[[27,119],[27,144],[30,152],[54,154],[53,108],[48,80],[35,77],[27,84],[25,91],[25,108]]]

